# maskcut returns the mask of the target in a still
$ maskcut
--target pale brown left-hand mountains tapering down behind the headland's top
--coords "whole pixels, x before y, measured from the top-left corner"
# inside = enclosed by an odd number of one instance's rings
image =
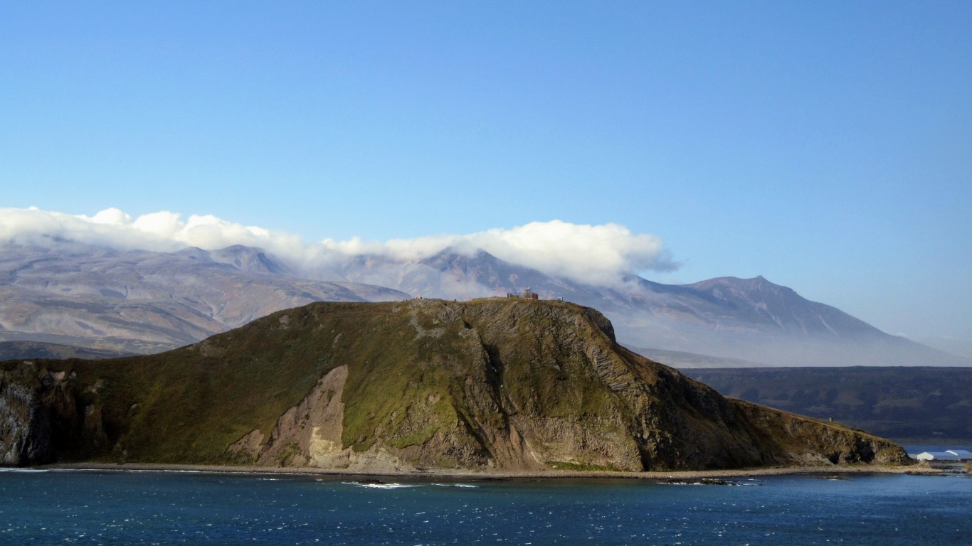
[[[0,341],[154,353],[313,301],[409,298],[300,279],[241,246],[158,253],[52,240],[0,251]]]

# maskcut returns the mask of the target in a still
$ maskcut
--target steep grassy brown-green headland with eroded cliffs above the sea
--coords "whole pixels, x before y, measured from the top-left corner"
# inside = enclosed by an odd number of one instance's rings
[[[0,458],[350,471],[901,463],[723,398],[559,301],[314,303],[150,356],[0,364]]]

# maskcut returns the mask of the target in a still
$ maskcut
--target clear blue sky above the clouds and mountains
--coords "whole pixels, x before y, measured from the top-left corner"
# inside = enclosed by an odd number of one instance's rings
[[[972,354],[968,2],[0,0],[0,206],[560,220]]]

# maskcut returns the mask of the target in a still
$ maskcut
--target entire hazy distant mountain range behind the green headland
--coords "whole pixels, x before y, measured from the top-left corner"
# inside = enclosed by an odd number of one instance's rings
[[[593,307],[619,341],[672,365],[972,365],[762,277],[584,284],[478,249],[361,254],[301,266],[260,249],[0,244],[0,341],[151,353],[312,301],[466,300],[522,293]]]

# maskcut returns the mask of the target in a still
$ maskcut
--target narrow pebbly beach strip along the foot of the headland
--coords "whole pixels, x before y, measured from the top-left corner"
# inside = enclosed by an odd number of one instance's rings
[[[848,475],[848,474],[920,474],[948,475],[948,470],[913,464],[908,466],[850,465],[850,466],[770,466],[737,468],[728,470],[649,470],[644,472],[611,471],[503,471],[468,469],[425,469],[401,471],[368,471],[365,469],[282,467],[282,466],[223,466],[218,464],[157,464],[157,463],[99,463],[69,462],[29,466],[38,470],[120,470],[120,471],[183,471],[219,474],[308,475],[308,476],[358,476],[365,478],[455,479],[455,480],[519,480],[519,479],[630,479],[630,480],[704,480],[726,478],[752,478],[794,474]]]

